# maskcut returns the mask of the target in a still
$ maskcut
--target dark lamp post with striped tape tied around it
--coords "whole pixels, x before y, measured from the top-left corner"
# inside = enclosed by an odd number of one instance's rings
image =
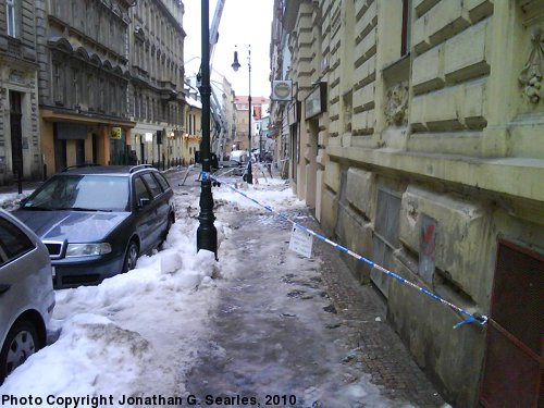
[[[200,213],[197,230],[197,251],[207,249],[215,254],[218,259],[218,231],[213,221],[213,196],[210,180],[210,24],[209,0],[201,0],[201,41],[202,65],[200,66],[200,97],[202,99],[202,141],[200,141],[200,161],[202,163],[202,181],[200,189]]]

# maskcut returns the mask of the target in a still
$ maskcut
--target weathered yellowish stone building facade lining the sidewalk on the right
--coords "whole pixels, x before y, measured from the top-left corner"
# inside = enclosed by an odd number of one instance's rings
[[[490,318],[453,330],[463,317],[346,259],[459,407],[541,394],[543,28],[536,0],[274,4],[295,193],[329,236]]]

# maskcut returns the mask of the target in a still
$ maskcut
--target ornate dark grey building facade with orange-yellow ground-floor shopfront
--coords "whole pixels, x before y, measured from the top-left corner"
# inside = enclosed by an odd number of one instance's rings
[[[128,116],[132,0],[37,0],[39,132],[50,175],[69,165],[120,163]]]

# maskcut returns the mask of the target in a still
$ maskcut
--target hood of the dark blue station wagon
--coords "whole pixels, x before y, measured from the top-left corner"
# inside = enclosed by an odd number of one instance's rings
[[[41,240],[91,243],[103,239],[129,213],[16,210],[13,215],[28,225]]]

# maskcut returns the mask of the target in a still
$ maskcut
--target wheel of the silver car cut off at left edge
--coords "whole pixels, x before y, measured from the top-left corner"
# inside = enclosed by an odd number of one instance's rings
[[[22,320],[11,327],[0,351],[0,385],[28,357],[41,348],[36,326]]]

